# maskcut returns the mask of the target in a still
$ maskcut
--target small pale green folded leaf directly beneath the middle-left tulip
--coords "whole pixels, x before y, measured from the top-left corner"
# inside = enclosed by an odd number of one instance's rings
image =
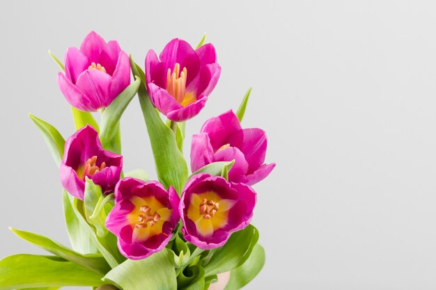
[[[97,231],[97,236],[103,238],[108,234],[107,228],[104,226],[104,222],[106,221],[106,213],[102,210],[102,207],[98,208],[98,212],[96,212],[96,207],[103,202],[105,197],[102,194],[102,188],[98,185],[95,185],[91,179],[86,177],[85,182],[85,216],[88,223],[95,227]],[[103,204],[104,206],[104,204]]]

